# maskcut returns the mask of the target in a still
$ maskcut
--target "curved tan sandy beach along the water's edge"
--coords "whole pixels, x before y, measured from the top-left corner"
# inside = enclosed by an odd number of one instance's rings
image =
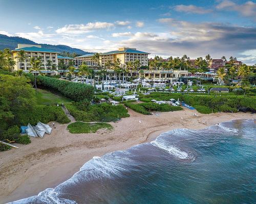
[[[197,113],[198,117],[193,113]],[[256,115],[250,113],[204,115],[188,109],[154,115],[129,110],[129,114],[129,118],[111,122],[113,131],[100,130],[94,134],[71,134],[66,130],[68,124],[55,122],[56,128],[51,135],[31,138],[29,145],[18,144],[18,149],[0,152],[0,203],[54,188],[68,180],[92,157],[150,142],[169,130],[203,129],[234,119],[256,119]]]

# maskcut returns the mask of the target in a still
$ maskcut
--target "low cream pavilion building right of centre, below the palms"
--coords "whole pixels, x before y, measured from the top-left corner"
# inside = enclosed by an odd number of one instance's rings
[[[177,82],[180,77],[186,77],[187,70],[144,70],[140,73],[140,78],[153,80],[153,82]]]

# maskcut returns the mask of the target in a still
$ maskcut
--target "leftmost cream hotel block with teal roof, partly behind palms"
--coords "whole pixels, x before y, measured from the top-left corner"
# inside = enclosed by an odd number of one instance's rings
[[[26,52],[26,61],[21,63],[18,59],[18,52],[20,50],[24,50]],[[25,72],[29,71],[31,68],[30,59],[32,57],[39,58],[42,62],[41,68],[47,70],[47,61],[52,61],[52,64],[56,64],[58,66],[58,59],[57,54],[55,50],[52,49],[46,49],[42,48],[41,45],[33,45],[33,44],[18,44],[18,47],[14,50],[12,50],[13,59],[16,62],[14,66],[14,70],[18,70],[22,68]]]

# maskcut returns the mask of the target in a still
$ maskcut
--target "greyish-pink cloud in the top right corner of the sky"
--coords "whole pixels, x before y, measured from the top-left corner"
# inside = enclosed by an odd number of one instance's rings
[[[253,3],[251,1],[248,1],[244,4],[236,4],[232,1],[224,0],[220,4],[218,4],[216,8],[219,10],[237,11],[243,16],[256,19],[256,3]]]

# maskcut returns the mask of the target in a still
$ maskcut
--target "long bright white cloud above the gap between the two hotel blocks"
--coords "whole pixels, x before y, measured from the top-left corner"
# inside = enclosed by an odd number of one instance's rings
[[[113,28],[113,23],[108,22],[89,22],[87,24],[69,24],[56,30],[58,34],[83,34],[90,33],[101,29]]]

